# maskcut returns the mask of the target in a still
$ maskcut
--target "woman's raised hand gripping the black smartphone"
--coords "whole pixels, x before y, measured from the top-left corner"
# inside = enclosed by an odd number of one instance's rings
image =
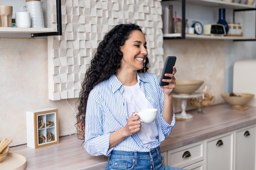
[[[163,82],[169,83],[168,85],[161,86],[161,88],[164,90],[164,93],[166,95],[171,95],[173,93],[173,89],[176,86],[175,77],[174,77],[174,74],[176,72],[177,72],[177,70],[176,70],[175,66],[173,66],[173,73],[172,74],[170,74],[170,73],[165,73],[164,74],[166,77],[171,77],[171,79],[163,79]]]

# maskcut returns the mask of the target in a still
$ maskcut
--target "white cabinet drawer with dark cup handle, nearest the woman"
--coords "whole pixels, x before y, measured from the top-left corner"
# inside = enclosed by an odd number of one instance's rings
[[[167,152],[168,166],[184,168],[204,160],[204,142],[182,146]]]

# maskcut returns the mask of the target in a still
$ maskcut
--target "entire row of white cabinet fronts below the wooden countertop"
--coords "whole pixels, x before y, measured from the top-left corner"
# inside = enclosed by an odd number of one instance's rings
[[[162,152],[164,165],[186,170],[256,170],[256,125]]]

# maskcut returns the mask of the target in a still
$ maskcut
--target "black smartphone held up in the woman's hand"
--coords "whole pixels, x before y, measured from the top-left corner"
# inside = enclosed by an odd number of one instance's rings
[[[163,82],[162,79],[170,79],[170,77],[164,76],[165,73],[173,73],[173,66],[175,65],[176,62],[176,57],[175,56],[168,56],[166,58],[165,64],[164,64],[164,69],[162,72],[162,76],[159,82],[160,86],[166,86],[169,83]]]

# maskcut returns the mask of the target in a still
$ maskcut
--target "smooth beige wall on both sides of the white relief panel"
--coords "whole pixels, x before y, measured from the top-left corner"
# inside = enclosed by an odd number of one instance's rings
[[[213,86],[215,103],[220,103],[225,90],[225,41],[215,42],[164,40],[164,56],[177,56],[177,79],[204,80]],[[76,110],[77,99],[48,99],[47,39],[0,39],[0,51],[0,138],[14,139],[13,145],[27,143],[26,111],[48,107],[58,108],[59,135],[74,134],[72,108]],[[174,110],[181,110],[178,99]]]

